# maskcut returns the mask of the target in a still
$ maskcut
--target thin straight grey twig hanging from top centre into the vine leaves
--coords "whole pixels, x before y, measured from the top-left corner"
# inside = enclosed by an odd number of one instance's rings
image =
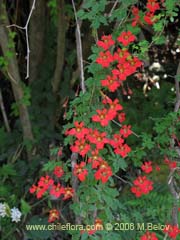
[[[78,65],[80,68],[80,74],[81,74],[81,89],[82,92],[86,92],[85,83],[84,83],[84,67],[83,67],[83,55],[82,55],[82,41],[81,41],[81,31],[80,31],[80,25],[81,21],[77,18],[77,12],[74,0],[72,0],[72,6],[74,10],[74,16],[76,20],[76,46],[77,46],[77,58],[78,58]]]

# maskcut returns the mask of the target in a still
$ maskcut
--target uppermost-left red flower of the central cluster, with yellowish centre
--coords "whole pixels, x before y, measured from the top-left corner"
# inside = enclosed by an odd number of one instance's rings
[[[84,127],[84,122],[74,122],[75,128],[70,129],[66,132],[66,135],[74,135],[78,139],[83,138],[86,134],[88,134],[88,129]]]

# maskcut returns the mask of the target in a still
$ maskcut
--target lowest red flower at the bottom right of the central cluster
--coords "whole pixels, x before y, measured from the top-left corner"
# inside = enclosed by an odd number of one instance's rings
[[[102,183],[106,183],[108,179],[112,176],[111,167],[108,165],[106,161],[102,161],[99,169],[94,174],[96,180],[101,180]]]

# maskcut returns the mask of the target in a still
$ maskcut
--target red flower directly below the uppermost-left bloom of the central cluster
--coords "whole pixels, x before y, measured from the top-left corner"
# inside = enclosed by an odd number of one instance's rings
[[[90,150],[90,145],[86,143],[85,139],[79,139],[75,141],[75,145],[70,147],[72,152],[79,153],[84,157]]]

